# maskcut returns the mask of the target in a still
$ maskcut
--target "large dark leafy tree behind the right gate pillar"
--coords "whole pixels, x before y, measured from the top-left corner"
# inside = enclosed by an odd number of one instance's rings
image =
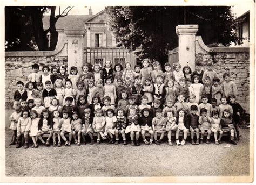
[[[239,44],[230,6],[107,6],[106,13],[110,30],[125,47],[141,47],[141,58],[161,63],[178,46],[179,24],[198,24],[205,44]]]

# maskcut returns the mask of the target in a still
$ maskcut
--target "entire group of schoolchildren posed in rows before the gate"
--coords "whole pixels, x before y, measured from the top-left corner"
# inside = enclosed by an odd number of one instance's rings
[[[10,145],[20,148],[24,138],[24,148],[28,148],[31,137],[35,148],[38,139],[50,146],[51,138],[53,146],[62,146],[61,139],[66,146],[72,139],[80,146],[87,136],[95,143],[93,133],[97,133],[96,144],[100,139],[119,144],[122,136],[124,145],[130,134],[132,146],[139,145],[140,135],[145,144],[161,144],[165,133],[173,145],[175,133],[176,144],[184,145],[189,132],[192,145],[203,144],[205,133],[206,144],[210,144],[212,132],[216,145],[223,132],[230,132],[230,142],[237,145],[242,107],[235,101],[237,87],[228,73],[220,84],[212,62],[205,71],[196,62],[193,73],[189,66],[181,70],[179,63],[173,64],[173,72],[170,63],[165,63],[164,73],[157,61],[153,70],[150,60],[143,60],[142,66],[132,70],[131,63],[125,62],[124,69],[120,63],[112,68],[112,61],[106,60],[104,68],[98,63],[85,64],[78,74],[72,66],[68,74],[64,65],[51,70],[43,66],[43,73],[38,73],[37,64],[32,65],[25,89],[23,82],[17,82]],[[43,134],[48,134],[46,142]]]

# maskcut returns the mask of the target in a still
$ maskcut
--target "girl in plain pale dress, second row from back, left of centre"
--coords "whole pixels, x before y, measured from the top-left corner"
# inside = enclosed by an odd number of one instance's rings
[[[105,86],[103,87],[103,94],[105,96],[109,96],[111,98],[111,105],[114,105],[114,102],[116,101],[117,95],[116,95],[116,87],[112,84],[113,79],[111,76],[107,76],[105,79]]]

